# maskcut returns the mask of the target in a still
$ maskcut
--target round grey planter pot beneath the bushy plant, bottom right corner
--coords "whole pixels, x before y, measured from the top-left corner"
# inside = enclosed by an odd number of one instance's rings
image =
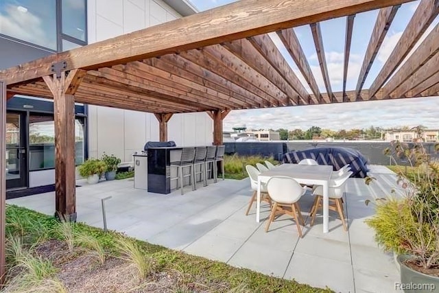
[[[405,266],[404,261],[410,259],[410,255],[399,255],[396,259],[401,267],[401,288],[396,289],[402,289],[405,293],[438,292],[439,277],[429,276]]]

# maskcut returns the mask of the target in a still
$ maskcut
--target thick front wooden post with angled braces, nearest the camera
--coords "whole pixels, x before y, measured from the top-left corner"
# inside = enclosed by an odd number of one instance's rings
[[[76,221],[75,196],[75,90],[85,71],[60,71],[43,77],[54,95],[55,120],[55,197],[61,220]]]

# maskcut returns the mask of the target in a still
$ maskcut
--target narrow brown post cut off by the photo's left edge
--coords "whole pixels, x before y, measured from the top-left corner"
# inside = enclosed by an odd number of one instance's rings
[[[5,281],[5,202],[6,202],[6,84],[0,80],[0,285]]]

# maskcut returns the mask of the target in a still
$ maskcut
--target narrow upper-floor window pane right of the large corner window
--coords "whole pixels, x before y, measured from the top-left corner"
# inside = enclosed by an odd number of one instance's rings
[[[61,10],[62,33],[85,41],[85,0],[62,0]]]

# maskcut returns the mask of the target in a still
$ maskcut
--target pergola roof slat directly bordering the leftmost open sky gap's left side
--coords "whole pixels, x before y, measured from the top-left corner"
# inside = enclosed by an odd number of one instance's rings
[[[309,93],[302,82],[298,79],[296,73],[288,65],[287,60],[282,56],[281,51],[274,45],[274,42],[268,34],[261,36],[252,36],[248,39],[253,47],[257,49],[261,55],[267,60],[274,70],[276,70],[286,81],[292,86],[294,91],[298,93],[303,104],[313,104],[309,100]]]

